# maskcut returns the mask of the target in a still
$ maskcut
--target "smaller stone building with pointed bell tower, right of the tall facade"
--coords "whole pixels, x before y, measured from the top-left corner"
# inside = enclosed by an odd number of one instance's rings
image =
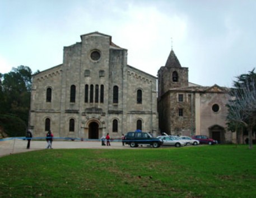
[[[232,142],[226,130],[228,89],[189,83],[188,68],[181,67],[171,50],[158,71],[158,112],[161,132],[173,135],[206,135],[220,143]]]

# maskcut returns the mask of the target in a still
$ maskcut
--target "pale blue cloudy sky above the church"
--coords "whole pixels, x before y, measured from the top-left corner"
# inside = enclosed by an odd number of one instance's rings
[[[157,75],[173,45],[190,82],[232,86],[256,67],[255,19],[254,0],[1,0],[0,73],[59,65],[64,46],[99,31],[148,74]]]

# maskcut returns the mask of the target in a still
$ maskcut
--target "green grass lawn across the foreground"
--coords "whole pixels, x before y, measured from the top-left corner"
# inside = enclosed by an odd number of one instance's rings
[[[45,149],[0,158],[0,197],[255,197],[256,149]]]

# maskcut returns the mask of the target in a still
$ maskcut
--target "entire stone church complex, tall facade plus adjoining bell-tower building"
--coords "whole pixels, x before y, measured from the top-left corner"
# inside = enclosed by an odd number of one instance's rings
[[[189,83],[173,49],[158,78],[127,64],[127,50],[100,32],[63,50],[63,63],[32,76],[29,127],[34,136],[99,139],[137,129],[158,135],[206,135],[232,141],[228,89]],[[157,84],[158,83],[158,84]]]

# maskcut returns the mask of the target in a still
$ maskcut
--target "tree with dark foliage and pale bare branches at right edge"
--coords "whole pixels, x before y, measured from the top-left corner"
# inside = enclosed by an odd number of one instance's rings
[[[249,148],[252,149],[253,128],[256,125],[256,74],[253,69],[249,74],[242,74],[236,79],[234,88],[230,90],[232,99],[227,104],[227,120],[236,130],[241,124],[244,125],[249,134]]]

